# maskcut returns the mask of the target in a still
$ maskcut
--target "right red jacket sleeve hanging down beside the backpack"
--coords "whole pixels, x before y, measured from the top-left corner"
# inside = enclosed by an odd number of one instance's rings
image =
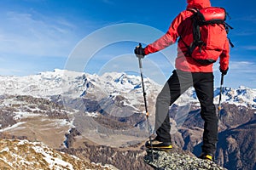
[[[230,63],[230,42],[228,38],[226,38],[226,42],[224,44],[224,50],[222,54],[219,56],[219,64],[220,68],[223,71],[226,71],[229,68]]]

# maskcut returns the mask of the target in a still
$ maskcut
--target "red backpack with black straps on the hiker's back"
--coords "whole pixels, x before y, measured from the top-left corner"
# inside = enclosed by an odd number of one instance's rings
[[[224,42],[229,32],[229,26],[226,20],[226,11],[224,8],[218,7],[208,7],[208,8],[189,8],[189,11],[193,13],[191,16],[193,25],[193,42],[186,42],[186,38],[180,38],[186,48],[188,48],[186,56],[190,56],[197,62],[208,65],[216,62],[218,56],[214,58],[206,59],[203,55],[198,55],[201,53],[202,48],[212,49],[212,50],[222,50],[224,48]],[[212,36],[214,35],[214,36]],[[230,39],[229,39],[230,41]],[[189,44],[188,44],[189,43]],[[234,45],[230,42],[231,47]]]

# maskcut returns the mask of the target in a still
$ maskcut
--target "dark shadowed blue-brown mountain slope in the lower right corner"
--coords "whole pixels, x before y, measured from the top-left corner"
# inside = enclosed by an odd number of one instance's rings
[[[218,164],[228,169],[256,169],[256,115],[247,123],[219,133]]]

